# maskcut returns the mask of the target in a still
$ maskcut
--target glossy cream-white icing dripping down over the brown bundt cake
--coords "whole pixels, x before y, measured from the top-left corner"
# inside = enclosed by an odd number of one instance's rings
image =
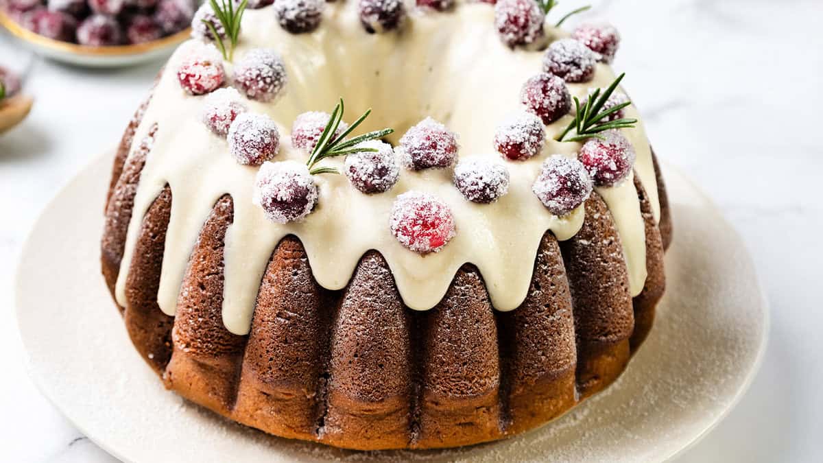
[[[567,217],[555,217],[532,194],[532,182],[546,157],[553,153],[573,157],[579,149],[579,143],[551,140],[570,116],[546,128],[541,154],[528,161],[506,162],[511,175],[509,193],[495,203],[464,199],[452,184],[450,170],[404,170],[393,189],[374,195],[360,193],[346,175],[318,175],[319,204],[305,222],[272,223],[251,200],[258,169],[235,162],[226,141],[202,124],[203,98],[186,95],[174,76],[176,64],[193,44],[182,45],[170,59],[135,136],[139,143],[151,124],[159,124],[137,188],[116,287],[123,306],[142,217],[166,183],[173,200],[158,292],[160,308],[174,314],[188,257],[203,222],[216,200],[230,194],[234,222],[226,232],[223,319],[235,334],[248,333],[263,272],[277,243],[289,234],[303,242],[314,278],[324,288],[345,288],[360,257],[374,249],[384,255],[403,301],[413,309],[435,306],[455,272],[469,262],[480,269],[495,308],[507,311],[527,295],[543,233],[551,230],[559,240],[567,240],[582,225],[583,207]],[[308,110],[330,110],[339,96],[346,101],[349,122],[369,106],[374,108],[358,132],[390,125],[398,130],[392,136],[396,143],[406,129],[430,115],[460,134],[462,159],[497,158],[500,155],[492,142],[495,128],[505,115],[519,109],[520,87],[540,72],[542,60],[539,52],[505,47],[494,29],[493,8],[472,3],[461,4],[454,12],[414,15],[399,33],[382,35],[363,30],[356,2],[329,3],[319,29],[300,35],[275,25],[268,8],[248,11],[235,58],[254,47],[276,49],[289,76],[284,95],[276,102],[246,102],[250,111],[277,121],[281,149],[276,161],[305,161],[305,152],[289,142],[292,121]],[[230,63],[226,63],[226,72],[231,72]],[[570,84],[569,88],[582,97],[589,87],[606,87],[614,77],[610,68],[597,64],[593,82]],[[634,107],[626,109],[626,117],[637,117]],[[635,170],[649,194],[654,217],[659,217],[644,129],[639,124],[623,133],[635,146]],[[339,158],[323,162],[342,166]],[[457,236],[439,253],[421,256],[406,250],[389,230],[393,200],[410,189],[437,195],[453,211]],[[638,294],[646,277],[645,236],[634,185],[629,179],[597,192],[614,217],[631,293]]]

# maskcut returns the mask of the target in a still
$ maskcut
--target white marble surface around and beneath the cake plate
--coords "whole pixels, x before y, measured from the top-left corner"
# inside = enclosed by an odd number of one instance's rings
[[[563,3],[561,10],[576,2]],[[680,461],[823,461],[823,307],[814,290],[823,278],[815,193],[823,180],[823,2],[594,3],[623,33],[616,67],[628,71],[625,87],[658,155],[737,227],[772,308],[769,349],[751,390]],[[25,57],[0,41],[0,63]],[[114,461],[26,376],[13,275],[40,209],[116,142],[159,66],[104,72],[36,63],[26,84],[35,108],[0,136],[0,461]]]

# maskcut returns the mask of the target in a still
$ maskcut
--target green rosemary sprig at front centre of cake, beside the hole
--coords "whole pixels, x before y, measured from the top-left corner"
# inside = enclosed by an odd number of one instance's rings
[[[371,108],[366,110],[363,115],[357,118],[357,120],[352,123],[346,131],[335,137],[334,133],[337,133],[337,129],[340,128],[340,123],[343,120],[344,110],[345,105],[343,104],[343,99],[341,98],[340,102],[334,106],[332,116],[328,118],[326,128],[323,129],[323,133],[320,134],[317,144],[314,145],[314,149],[309,155],[309,160],[306,161],[306,166],[309,166],[309,174],[339,174],[340,172],[334,167],[315,167],[315,165],[327,157],[343,156],[352,152],[377,152],[374,148],[357,148],[355,146],[358,143],[384,138],[389,133],[394,132],[394,129],[374,130],[374,132],[364,133],[344,142],[343,138],[346,138],[346,135],[356,129],[357,126],[365,120],[365,118],[369,117],[371,114]]]

